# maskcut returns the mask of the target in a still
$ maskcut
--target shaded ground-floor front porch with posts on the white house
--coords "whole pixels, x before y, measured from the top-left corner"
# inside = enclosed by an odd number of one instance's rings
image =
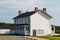
[[[30,35],[30,25],[19,25],[10,28],[12,34]]]

